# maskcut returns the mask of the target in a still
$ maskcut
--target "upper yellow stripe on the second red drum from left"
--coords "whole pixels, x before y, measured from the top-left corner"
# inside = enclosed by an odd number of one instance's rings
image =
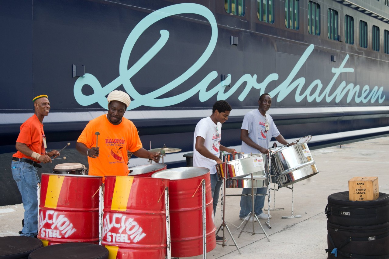
[[[133,180],[133,176],[116,177],[111,210],[126,211]]]

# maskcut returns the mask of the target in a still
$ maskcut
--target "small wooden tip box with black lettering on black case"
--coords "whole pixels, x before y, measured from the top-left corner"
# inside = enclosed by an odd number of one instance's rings
[[[350,201],[374,201],[378,196],[378,177],[357,176],[349,180]]]

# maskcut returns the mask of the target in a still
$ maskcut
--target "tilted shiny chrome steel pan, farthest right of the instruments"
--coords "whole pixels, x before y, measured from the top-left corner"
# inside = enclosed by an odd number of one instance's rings
[[[270,174],[275,177],[279,187],[300,182],[319,173],[307,143],[277,148],[271,161]]]

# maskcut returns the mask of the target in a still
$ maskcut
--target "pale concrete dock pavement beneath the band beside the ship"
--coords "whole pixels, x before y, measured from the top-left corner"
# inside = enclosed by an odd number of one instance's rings
[[[309,143],[308,143],[309,146]],[[282,187],[275,191],[275,208],[270,210],[271,228],[260,222],[268,235],[249,235],[242,233],[238,238],[240,196],[226,197],[226,222],[237,245],[242,252],[239,254],[235,246],[216,245],[207,253],[208,259],[247,259],[247,258],[277,258],[277,259],[325,259],[327,254],[327,219],[324,213],[327,198],[330,194],[348,191],[348,180],[352,177],[377,176],[381,193],[389,193],[389,137],[374,138],[350,144],[337,145],[311,150],[319,173],[294,184],[293,215],[298,218],[282,219],[282,216],[292,214],[292,191]],[[240,188],[228,188],[226,194],[241,194]],[[271,191],[270,208],[274,206],[274,192]],[[267,208],[267,199],[265,208]],[[18,235],[23,219],[23,205],[0,207],[0,236]],[[216,229],[221,225],[221,206],[215,216]],[[258,223],[254,224],[255,232],[261,233]],[[252,224],[247,224],[246,230],[252,230]],[[222,233],[219,232],[220,236]],[[229,238],[225,231],[226,238]],[[233,245],[229,240],[228,245]],[[203,256],[187,257],[200,259]]]

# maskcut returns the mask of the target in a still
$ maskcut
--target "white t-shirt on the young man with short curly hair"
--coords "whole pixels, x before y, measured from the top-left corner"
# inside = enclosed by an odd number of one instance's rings
[[[201,119],[195,129],[193,138],[193,166],[201,166],[209,169],[211,174],[216,173],[216,161],[202,156],[196,151],[196,137],[204,138],[204,146],[215,156],[219,157],[220,139],[221,139],[221,123],[215,124],[210,117]]]

